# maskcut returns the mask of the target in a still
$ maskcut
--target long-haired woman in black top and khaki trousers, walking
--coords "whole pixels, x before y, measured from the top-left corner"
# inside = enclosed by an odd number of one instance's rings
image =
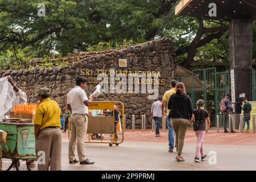
[[[182,148],[186,129],[189,126],[189,120],[192,117],[192,102],[190,97],[186,94],[185,86],[182,82],[176,85],[176,94],[173,94],[168,102],[168,109],[170,109],[169,118],[171,119],[172,127],[176,133],[176,150],[177,162],[182,162]]]

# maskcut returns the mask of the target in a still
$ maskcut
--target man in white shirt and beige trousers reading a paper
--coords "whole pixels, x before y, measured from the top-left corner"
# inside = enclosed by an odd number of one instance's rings
[[[78,163],[75,159],[75,144],[77,140],[78,158],[80,164],[94,164],[86,158],[84,152],[84,138],[86,137],[88,125],[88,106],[91,104],[94,96],[88,100],[86,92],[87,80],[83,77],[76,79],[76,86],[67,94],[67,107],[71,111],[71,137],[68,144],[68,158],[70,164]]]

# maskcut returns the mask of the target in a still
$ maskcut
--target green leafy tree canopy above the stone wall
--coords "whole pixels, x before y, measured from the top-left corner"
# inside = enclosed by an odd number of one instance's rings
[[[6,57],[27,60],[88,51],[99,42],[143,43],[168,37],[178,63],[189,68],[198,57],[206,65],[229,63],[227,22],[174,15],[178,0],[0,0],[0,66]],[[45,5],[45,16],[42,7]],[[254,23],[254,35],[256,23]],[[254,58],[256,38],[254,37]]]

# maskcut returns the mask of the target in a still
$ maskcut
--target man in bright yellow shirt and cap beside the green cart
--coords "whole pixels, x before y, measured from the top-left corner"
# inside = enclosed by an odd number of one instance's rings
[[[60,108],[50,99],[50,89],[40,88],[36,94],[40,104],[35,112],[35,148],[36,154],[42,155],[38,160],[38,171],[61,170],[62,135],[60,132]]]

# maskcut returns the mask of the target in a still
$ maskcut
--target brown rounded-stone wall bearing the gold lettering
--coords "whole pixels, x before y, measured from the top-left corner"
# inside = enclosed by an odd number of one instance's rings
[[[50,88],[51,98],[58,102],[64,111],[66,94],[74,87],[75,78],[85,69],[92,69],[90,73],[84,75],[88,78],[96,77],[97,69],[160,72],[160,79],[165,81],[164,85],[159,85],[159,94],[163,96],[170,88],[170,81],[176,78],[175,51],[172,40],[162,38],[125,49],[75,53],[71,57],[60,59],[68,61],[69,64],[65,66],[39,68],[36,65],[35,68],[29,70],[0,71],[0,77],[11,75],[17,85],[27,93],[28,102],[36,102],[35,94],[39,88]],[[127,59],[127,68],[119,68],[119,59]],[[90,96],[96,85],[94,81],[88,83],[87,96]],[[136,127],[141,127],[141,114],[143,113],[147,115],[146,121],[149,128],[152,121],[151,105],[154,101],[147,100],[147,96],[147,93],[104,94],[97,98],[97,101],[124,102],[127,127],[131,128],[132,114],[136,116]]]

